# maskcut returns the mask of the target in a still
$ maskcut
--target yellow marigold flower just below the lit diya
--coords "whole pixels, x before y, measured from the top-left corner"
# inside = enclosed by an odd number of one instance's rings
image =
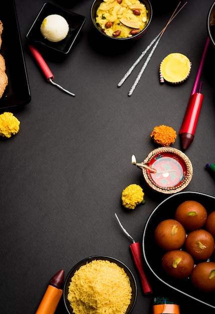
[[[138,204],[145,204],[143,197],[142,188],[137,184],[131,184],[122,191],[122,205],[128,209],[135,209]]]

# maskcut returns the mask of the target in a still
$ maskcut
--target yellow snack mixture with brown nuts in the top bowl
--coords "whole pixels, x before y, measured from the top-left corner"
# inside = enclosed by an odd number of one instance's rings
[[[96,12],[96,23],[110,37],[128,38],[145,28],[147,13],[138,0],[104,0]]]

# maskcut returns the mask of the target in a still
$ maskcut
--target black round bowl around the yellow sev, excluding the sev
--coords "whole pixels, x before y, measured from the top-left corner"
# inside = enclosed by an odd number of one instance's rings
[[[91,256],[88,258],[83,259],[82,261],[80,261],[79,263],[77,263],[69,272],[69,274],[67,275],[67,278],[65,280],[64,283],[64,291],[63,291],[63,298],[64,298],[64,304],[65,307],[67,309],[67,312],[69,314],[73,314],[73,309],[70,305],[70,302],[67,299],[67,295],[68,295],[68,289],[69,289],[69,285],[71,282],[71,278],[73,277],[74,273],[76,272],[76,270],[78,270],[81,266],[90,263],[92,260],[108,260],[110,262],[113,262],[115,264],[117,264],[119,267],[123,268],[125,273],[128,275],[129,280],[130,280],[130,284],[131,284],[131,290],[132,290],[132,296],[131,296],[131,302],[128,305],[128,308],[125,312],[125,314],[130,314],[134,308],[135,302],[136,302],[136,298],[137,298],[137,284],[136,284],[136,280],[132,274],[132,272],[130,271],[130,269],[123,264],[122,262],[120,262],[119,260],[113,258],[113,257],[109,257],[109,256]]]

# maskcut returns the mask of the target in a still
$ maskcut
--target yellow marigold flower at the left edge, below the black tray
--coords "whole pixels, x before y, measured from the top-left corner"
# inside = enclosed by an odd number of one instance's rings
[[[11,112],[0,114],[0,135],[11,137],[20,130],[20,121]]]

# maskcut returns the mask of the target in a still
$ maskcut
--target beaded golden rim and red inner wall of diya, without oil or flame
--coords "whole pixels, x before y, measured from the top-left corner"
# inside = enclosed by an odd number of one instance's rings
[[[164,157],[162,156],[162,153],[165,153],[165,157],[169,157],[169,159],[172,159],[172,162],[175,164],[179,164],[182,169],[182,176],[181,179],[178,181],[178,183],[175,186],[160,186],[155,182],[155,180],[152,178],[153,176],[159,176],[158,171],[151,171],[154,169],[154,163],[159,160],[159,158]],[[190,183],[193,175],[192,170],[192,164],[188,157],[181,151],[173,147],[159,147],[154,150],[152,150],[146,159],[137,165],[147,165],[148,167],[142,167],[142,173],[143,177],[148,184],[149,187],[151,187],[153,190],[165,193],[165,194],[172,194],[182,191],[184,188],[187,187],[187,185]],[[171,171],[170,171],[171,172]],[[154,177],[155,178],[155,177]],[[165,180],[165,178],[164,178]]]

